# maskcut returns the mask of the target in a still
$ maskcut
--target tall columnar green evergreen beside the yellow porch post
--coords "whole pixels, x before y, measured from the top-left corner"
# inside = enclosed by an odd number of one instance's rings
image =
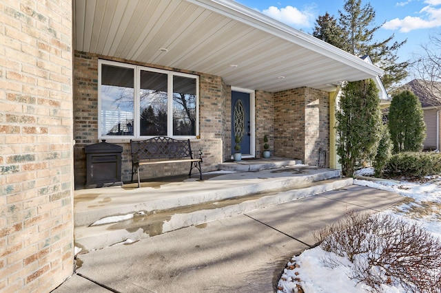
[[[342,89],[337,112],[337,154],[345,176],[373,160],[382,126],[378,89],[373,80],[350,82]]]

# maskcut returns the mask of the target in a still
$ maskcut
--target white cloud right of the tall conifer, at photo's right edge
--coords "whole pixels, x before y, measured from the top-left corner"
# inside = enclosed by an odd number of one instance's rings
[[[410,32],[423,28],[441,27],[441,8],[433,6],[441,5],[441,0],[426,0],[429,6],[420,10],[421,17],[404,17],[404,19],[392,19],[384,23],[382,28],[386,30],[399,30],[400,32]]]

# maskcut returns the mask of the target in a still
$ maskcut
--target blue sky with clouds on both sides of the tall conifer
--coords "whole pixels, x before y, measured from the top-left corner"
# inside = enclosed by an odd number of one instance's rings
[[[293,28],[311,34],[318,16],[326,12],[338,17],[345,0],[236,0]],[[375,25],[382,25],[374,36],[383,41],[395,34],[395,41],[407,43],[398,50],[400,61],[411,60],[421,53],[422,44],[429,43],[429,35],[441,32],[441,0],[362,0],[371,3],[376,12]]]

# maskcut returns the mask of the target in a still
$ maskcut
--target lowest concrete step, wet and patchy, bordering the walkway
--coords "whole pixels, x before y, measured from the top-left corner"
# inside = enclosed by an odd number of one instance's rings
[[[170,232],[187,226],[203,226],[209,221],[247,213],[258,208],[274,206],[301,197],[317,195],[352,184],[352,178],[338,178],[309,182],[302,186],[289,185],[248,195],[215,199],[200,204],[158,210],[146,213],[138,211],[114,216],[116,222],[96,226],[77,226],[74,230],[75,245],[83,252],[121,243],[127,239],[136,241]],[[110,221],[112,218],[101,219]]]

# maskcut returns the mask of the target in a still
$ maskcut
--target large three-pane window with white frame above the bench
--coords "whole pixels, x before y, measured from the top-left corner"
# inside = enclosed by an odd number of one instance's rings
[[[99,138],[198,135],[199,78],[99,61]]]

